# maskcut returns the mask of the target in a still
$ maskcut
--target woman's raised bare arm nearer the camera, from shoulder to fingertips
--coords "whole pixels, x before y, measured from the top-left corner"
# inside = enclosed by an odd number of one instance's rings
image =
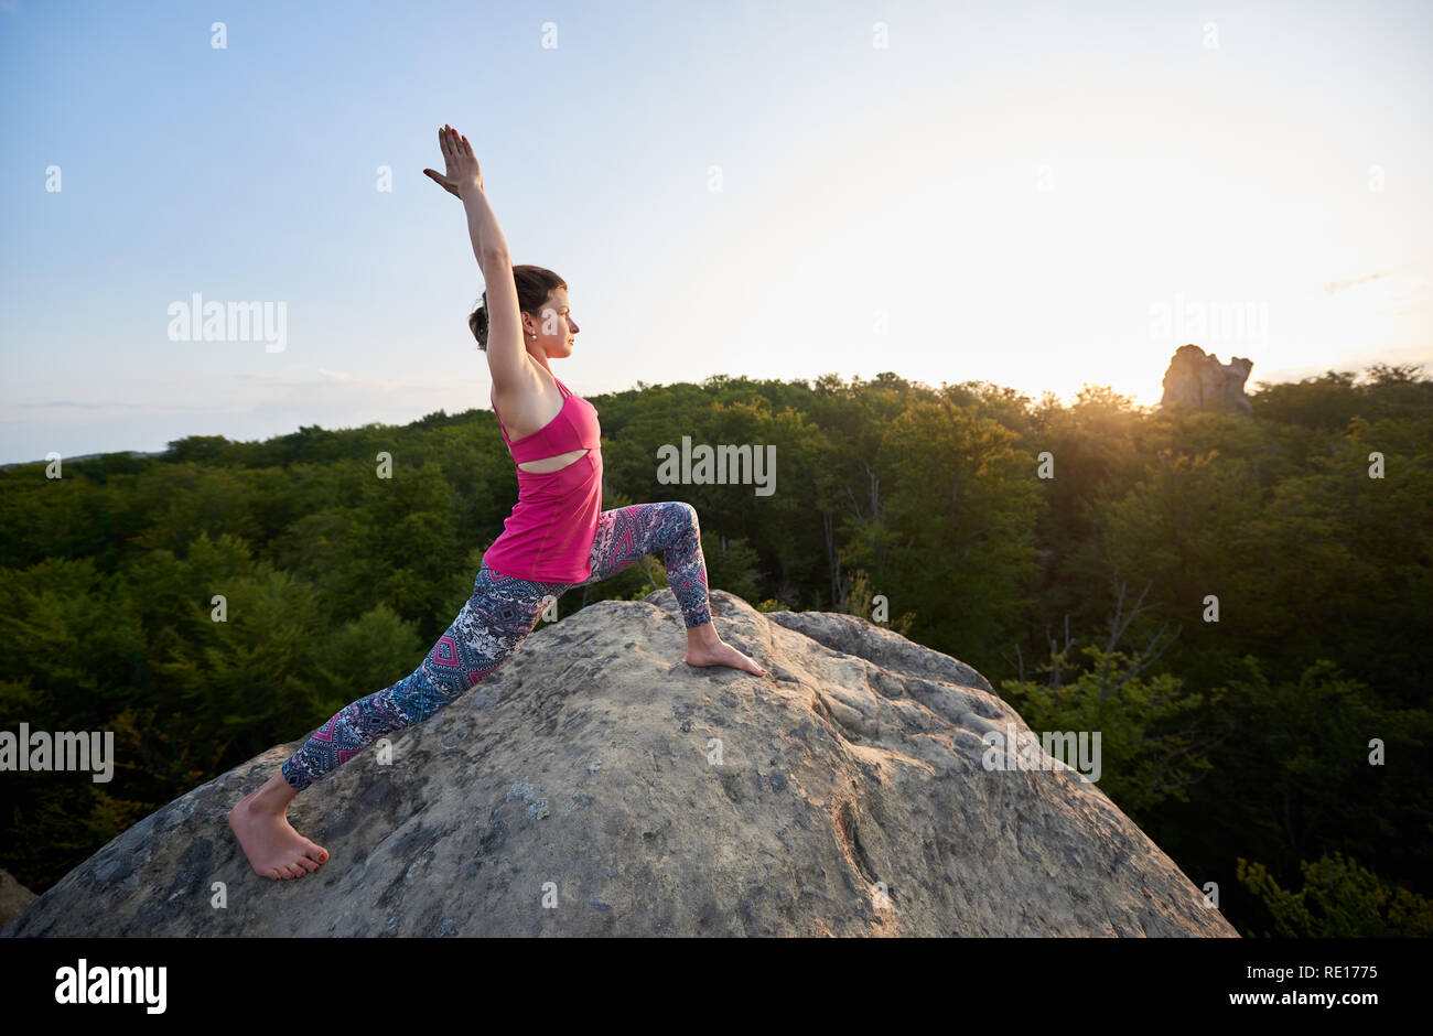
[[[438,130],[438,138],[447,160],[447,179],[457,186],[457,196],[463,201],[473,255],[487,285],[487,367],[493,375],[493,394],[500,400],[522,398],[535,387],[530,384],[535,378],[527,365],[527,350],[523,348],[523,322],[507,241],[497,226],[493,206],[487,203],[473,145],[451,126]]]

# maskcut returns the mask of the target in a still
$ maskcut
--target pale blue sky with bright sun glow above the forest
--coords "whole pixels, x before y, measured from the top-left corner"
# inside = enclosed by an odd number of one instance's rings
[[[1430,80],[1427,0],[0,0],[0,463],[486,408],[444,122],[583,394],[1433,367]]]

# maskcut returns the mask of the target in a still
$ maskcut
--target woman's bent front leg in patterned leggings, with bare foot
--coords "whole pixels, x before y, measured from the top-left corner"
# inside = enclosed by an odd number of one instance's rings
[[[729,665],[765,676],[765,669],[716,635],[706,596],[701,523],[689,503],[635,503],[602,512],[592,540],[592,575],[576,586],[600,582],[658,550],[686,625],[686,663]]]

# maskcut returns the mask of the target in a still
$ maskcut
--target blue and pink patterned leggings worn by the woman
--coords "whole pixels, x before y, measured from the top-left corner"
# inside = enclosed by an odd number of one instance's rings
[[[397,684],[345,705],[284,762],[284,780],[302,791],[375,738],[421,722],[497,669],[537,626],[550,603],[575,586],[612,576],[662,550],[666,577],[686,628],[711,622],[701,526],[689,503],[639,503],[606,510],[592,540],[592,575],[580,583],[503,576],[483,565],[473,596],[423,663]]]

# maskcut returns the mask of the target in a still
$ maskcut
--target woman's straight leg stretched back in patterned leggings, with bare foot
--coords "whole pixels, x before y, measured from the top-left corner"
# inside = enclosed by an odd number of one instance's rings
[[[537,625],[545,598],[560,589],[480,569],[473,596],[413,673],[335,712],[278,774],[229,811],[255,873],[289,878],[318,870],[328,854],[289,825],[294,797],[378,737],[423,722],[497,669]]]

